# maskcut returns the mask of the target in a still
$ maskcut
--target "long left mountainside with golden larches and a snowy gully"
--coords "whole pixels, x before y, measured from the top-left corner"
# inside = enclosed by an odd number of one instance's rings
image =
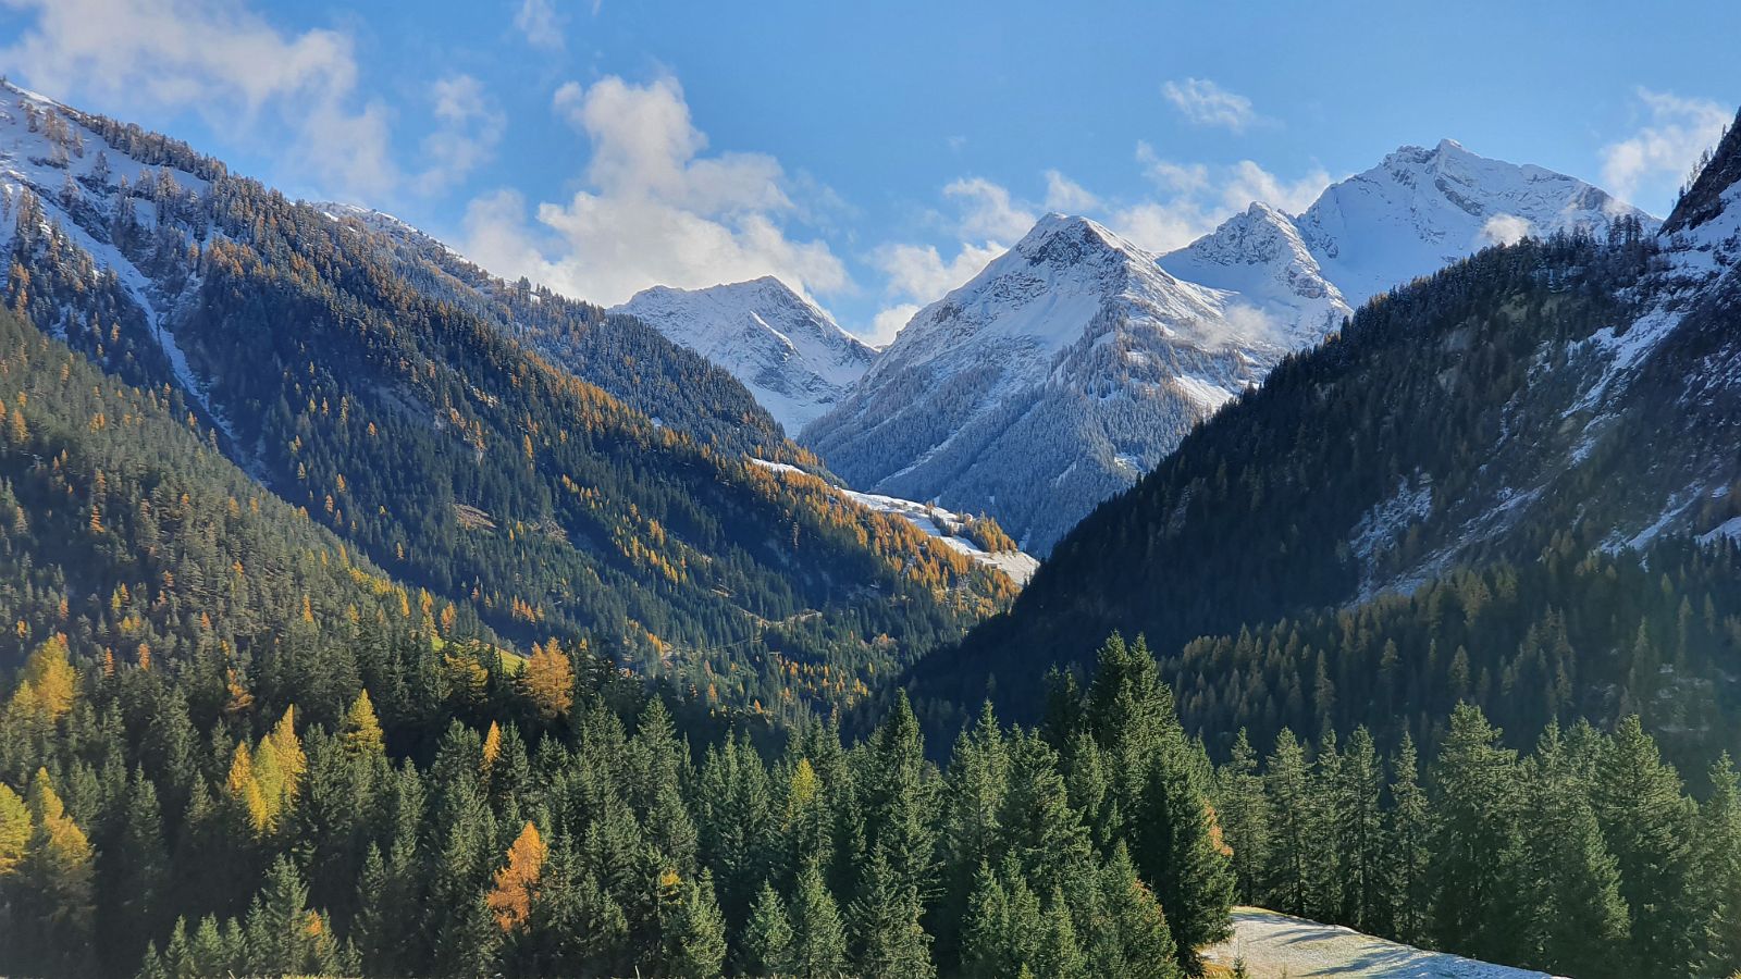
[[[729,451],[736,435],[691,435],[677,425],[728,418],[709,399],[656,402],[682,385],[642,385],[642,413],[559,369],[534,352],[557,327],[515,310],[554,310],[564,340],[615,317],[531,289],[500,300],[493,280],[456,289],[360,221],[164,138],[16,89],[5,111],[5,303],[122,378],[183,392],[265,490],[515,641],[587,634],[723,700],[797,707],[787,688],[851,699],[1012,589],[902,519],[775,479]],[[700,364],[620,324],[642,375]],[[813,463],[723,371],[695,376],[761,420],[775,441],[743,439],[759,458]]]

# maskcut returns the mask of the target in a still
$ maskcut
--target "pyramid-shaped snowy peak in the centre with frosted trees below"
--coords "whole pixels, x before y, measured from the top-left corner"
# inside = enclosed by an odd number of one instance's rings
[[[1085,218],[921,310],[804,442],[853,486],[991,512],[1045,550],[1290,347]]]

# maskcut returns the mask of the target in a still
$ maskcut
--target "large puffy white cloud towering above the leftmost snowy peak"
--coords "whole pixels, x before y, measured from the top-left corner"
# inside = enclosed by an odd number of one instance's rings
[[[554,110],[592,145],[585,190],[566,204],[498,192],[472,202],[465,251],[505,275],[613,305],[662,284],[702,287],[776,275],[803,293],[850,287],[822,240],[794,240],[799,216],[780,162],[763,153],[703,155],[676,78],[634,85],[606,77],[562,85]]]

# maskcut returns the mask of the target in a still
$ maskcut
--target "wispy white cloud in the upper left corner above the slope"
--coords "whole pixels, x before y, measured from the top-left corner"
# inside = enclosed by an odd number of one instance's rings
[[[270,113],[294,134],[291,165],[329,190],[399,181],[387,106],[360,99],[348,35],[282,33],[240,0],[3,0],[35,21],[0,64],[50,92],[193,108],[233,125]]]

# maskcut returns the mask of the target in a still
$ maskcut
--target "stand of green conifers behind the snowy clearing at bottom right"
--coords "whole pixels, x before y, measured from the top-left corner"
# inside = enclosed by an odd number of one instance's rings
[[[1579,979],[1741,969],[1729,754],[1677,772],[1637,716],[1522,753],[1469,704],[1438,726],[1436,756],[1283,728],[1262,763],[1240,732],[1213,794],[1241,899]]]

